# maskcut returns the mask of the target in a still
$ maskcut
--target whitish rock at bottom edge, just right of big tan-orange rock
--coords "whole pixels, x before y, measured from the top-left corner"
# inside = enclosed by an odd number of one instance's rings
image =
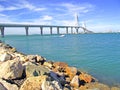
[[[63,90],[57,81],[43,81],[42,90]]]

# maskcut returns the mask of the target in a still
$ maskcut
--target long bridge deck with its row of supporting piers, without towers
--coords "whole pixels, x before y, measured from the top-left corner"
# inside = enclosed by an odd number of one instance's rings
[[[29,35],[29,27],[39,27],[40,28],[40,34],[43,35],[43,28],[48,27],[50,28],[50,34],[53,34],[53,28],[56,28],[57,34],[60,34],[60,28],[65,28],[66,34],[68,34],[68,28],[71,28],[71,34],[73,34],[73,28],[76,30],[76,34],[78,34],[79,28],[83,29],[84,33],[93,33],[92,31],[87,30],[85,27],[82,26],[57,26],[57,25],[35,25],[35,24],[0,24],[0,31],[1,31],[1,37],[4,37],[5,28],[6,27],[24,27],[26,31],[26,36]]]

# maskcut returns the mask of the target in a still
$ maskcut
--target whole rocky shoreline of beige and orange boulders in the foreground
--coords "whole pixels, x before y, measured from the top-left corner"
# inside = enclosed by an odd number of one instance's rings
[[[120,90],[93,76],[52,62],[39,55],[25,55],[0,41],[0,90]]]

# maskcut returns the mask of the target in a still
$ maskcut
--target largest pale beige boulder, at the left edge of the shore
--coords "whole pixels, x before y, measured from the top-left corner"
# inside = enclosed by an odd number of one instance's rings
[[[23,66],[18,60],[8,60],[0,65],[0,77],[4,79],[20,78]]]

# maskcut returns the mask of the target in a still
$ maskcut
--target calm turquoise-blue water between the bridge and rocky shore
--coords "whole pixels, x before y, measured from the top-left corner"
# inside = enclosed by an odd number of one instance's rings
[[[67,62],[100,82],[120,85],[120,34],[9,35],[0,39],[20,52]]]

